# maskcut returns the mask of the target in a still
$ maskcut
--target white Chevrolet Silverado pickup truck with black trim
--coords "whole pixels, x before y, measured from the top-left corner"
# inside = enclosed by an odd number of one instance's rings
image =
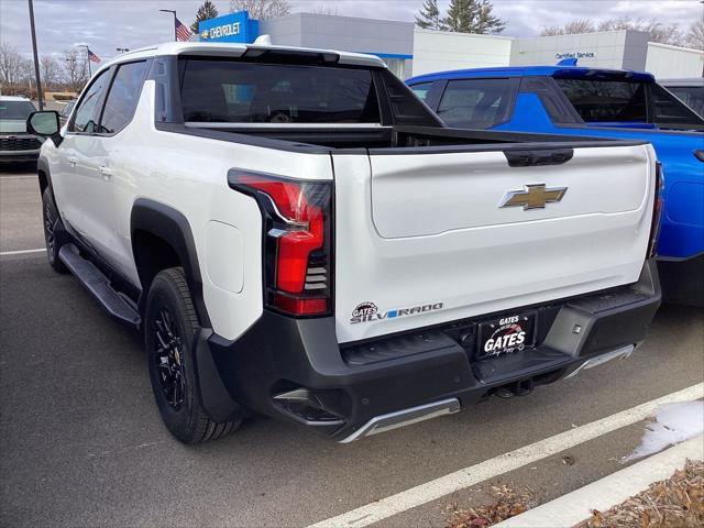
[[[649,144],[449,129],[376,57],[164,44],[28,121],[48,261],[144,333],[184,442],[527,394],[629,355],[660,302]]]

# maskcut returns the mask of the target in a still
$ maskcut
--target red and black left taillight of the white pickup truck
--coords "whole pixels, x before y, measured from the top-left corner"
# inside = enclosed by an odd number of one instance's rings
[[[264,230],[264,296],[295,316],[331,311],[332,182],[231,169],[231,188],[253,196]]]

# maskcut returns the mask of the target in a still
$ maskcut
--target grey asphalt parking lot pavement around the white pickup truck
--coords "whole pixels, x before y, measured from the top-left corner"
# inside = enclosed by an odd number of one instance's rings
[[[141,337],[103,314],[41,252],[31,167],[0,173],[0,524],[2,526],[306,526],[645,402],[704,377],[704,310],[666,306],[628,360],[529,396],[346,446],[253,418],[186,447],[162,426]],[[622,466],[644,424],[502,475],[540,501]],[[565,462],[565,455],[569,455]],[[476,486],[381,526],[444,526]]]

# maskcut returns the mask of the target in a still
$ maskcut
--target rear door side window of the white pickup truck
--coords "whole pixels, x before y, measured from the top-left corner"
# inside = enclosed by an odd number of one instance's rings
[[[127,127],[136,108],[146,74],[146,62],[118,67],[100,119],[100,132],[116,134]]]

